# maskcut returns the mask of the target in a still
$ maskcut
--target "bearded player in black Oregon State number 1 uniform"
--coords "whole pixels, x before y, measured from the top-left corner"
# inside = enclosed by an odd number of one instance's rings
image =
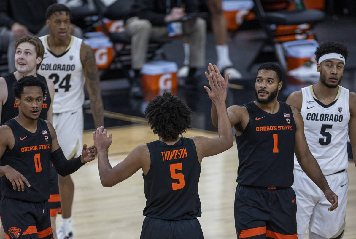
[[[209,64],[208,71],[220,75],[216,65]],[[239,184],[235,193],[237,238],[297,239],[297,206],[291,188],[294,153],[304,172],[331,203],[329,211],[338,205],[337,195],[330,190],[310,153],[302,116],[295,107],[277,101],[281,80],[278,65],[261,65],[255,83],[256,100],[227,108],[239,154]],[[214,103],[211,119],[217,126]]]

